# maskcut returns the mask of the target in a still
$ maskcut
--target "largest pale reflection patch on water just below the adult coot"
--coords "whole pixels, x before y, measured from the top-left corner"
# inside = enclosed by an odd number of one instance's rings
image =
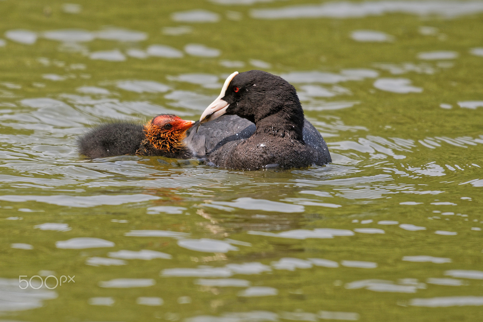
[[[264,210],[284,213],[303,212],[305,210],[305,208],[300,205],[287,204],[265,199],[254,199],[251,197],[241,197],[233,201],[213,201],[212,203],[215,205],[229,206],[245,210]]]

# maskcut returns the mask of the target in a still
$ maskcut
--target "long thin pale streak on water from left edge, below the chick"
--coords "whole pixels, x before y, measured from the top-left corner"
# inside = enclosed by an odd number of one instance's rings
[[[27,101],[27,99],[22,102]],[[31,101],[31,100],[29,100]],[[88,208],[100,205],[122,205],[131,202],[143,202],[149,200],[157,200],[159,197],[135,194],[135,195],[98,195],[98,196],[67,196],[67,195],[51,195],[51,196],[0,196],[0,200],[12,202],[37,201],[45,202],[51,205]]]

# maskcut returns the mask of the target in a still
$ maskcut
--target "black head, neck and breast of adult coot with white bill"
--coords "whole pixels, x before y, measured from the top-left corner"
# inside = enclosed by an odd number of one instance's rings
[[[201,114],[200,124],[223,114],[234,114],[255,123],[246,140],[228,141],[208,155],[222,168],[304,168],[332,162],[327,144],[304,140],[304,114],[295,87],[262,70],[234,72],[221,94]]]

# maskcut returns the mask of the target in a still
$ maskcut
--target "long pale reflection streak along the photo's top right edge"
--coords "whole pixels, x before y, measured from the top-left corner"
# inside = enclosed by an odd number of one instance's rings
[[[455,18],[483,12],[481,1],[335,1],[314,5],[296,5],[275,9],[254,9],[250,15],[258,19],[296,18],[362,18],[383,14],[441,15]]]

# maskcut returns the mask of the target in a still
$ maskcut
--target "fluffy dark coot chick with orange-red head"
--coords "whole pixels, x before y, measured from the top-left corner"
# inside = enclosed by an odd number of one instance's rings
[[[89,159],[124,154],[192,158],[196,153],[184,139],[194,123],[176,115],[159,114],[145,125],[125,121],[101,124],[77,139],[79,154]]]

